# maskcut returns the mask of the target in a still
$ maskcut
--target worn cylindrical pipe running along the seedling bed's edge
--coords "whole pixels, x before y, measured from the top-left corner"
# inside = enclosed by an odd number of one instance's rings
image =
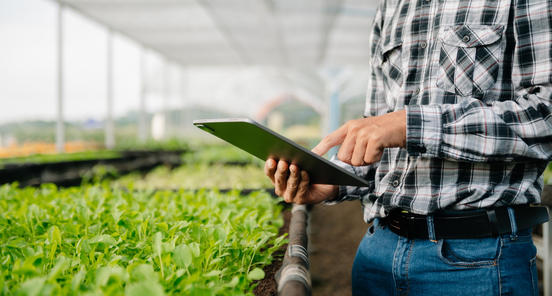
[[[284,255],[282,268],[276,273],[278,295],[311,295],[312,285],[309,274],[309,254],[307,253],[307,218],[305,205],[294,204],[291,209],[288,250]]]

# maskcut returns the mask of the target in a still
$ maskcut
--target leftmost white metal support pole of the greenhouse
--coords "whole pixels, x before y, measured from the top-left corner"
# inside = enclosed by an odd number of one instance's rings
[[[57,9],[57,123],[56,150],[65,151],[65,126],[63,126],[63,4]]]

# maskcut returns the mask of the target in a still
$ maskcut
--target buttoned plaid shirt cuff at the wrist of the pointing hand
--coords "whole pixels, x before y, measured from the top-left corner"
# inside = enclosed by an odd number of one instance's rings
[[[405,109],[408,155],[441,157],[443,123],[440,106],[410,105]]]

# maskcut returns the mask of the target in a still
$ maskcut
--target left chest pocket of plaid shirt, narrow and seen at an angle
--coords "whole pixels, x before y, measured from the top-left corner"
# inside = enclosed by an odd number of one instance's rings
[[[381,53],[381,70],[383,73],[383,86],[385,91],[385,101],[389,109],[395,109],[395,103],[399,99],[402,89],[402,43],[395,43],[386,46]]]

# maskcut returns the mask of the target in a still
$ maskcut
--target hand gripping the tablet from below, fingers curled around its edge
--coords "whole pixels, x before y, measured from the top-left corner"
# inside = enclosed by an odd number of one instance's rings
[[[276,194],[284,197],[286,203],[317,204],[336,198],[339,193],[337,185],[309,184],[307,172],[285,161],[267,160],[264,173],[270,178]]]

